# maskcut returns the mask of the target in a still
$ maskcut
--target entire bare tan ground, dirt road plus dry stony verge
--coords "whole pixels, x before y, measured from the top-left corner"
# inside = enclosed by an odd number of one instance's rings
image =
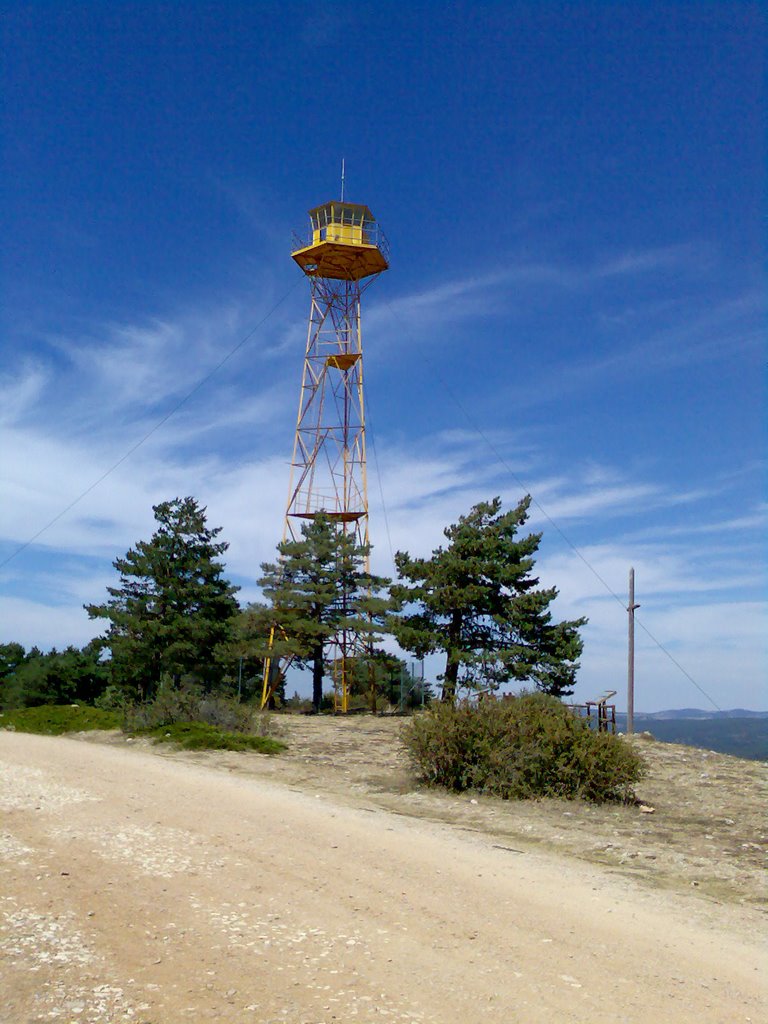
[[[0,732],[0,1022],[768,1017],[764,765],[637,739],[652,812],[509,804],[420,790],[400,727]]]

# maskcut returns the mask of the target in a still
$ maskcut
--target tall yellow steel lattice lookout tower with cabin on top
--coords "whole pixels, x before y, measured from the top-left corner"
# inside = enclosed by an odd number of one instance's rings
[[[311,294],[283,539],[299,540],[301,520],[322,514],[368,545],[360,296],[388,268],[389,249],[371,210],[343,200],[310,210],[309,237],[296,242]],[[348,710],[347,669],[364,644],[349,631],[331,642],[337,711]],[[287,668],[266,659],[262,707]]]

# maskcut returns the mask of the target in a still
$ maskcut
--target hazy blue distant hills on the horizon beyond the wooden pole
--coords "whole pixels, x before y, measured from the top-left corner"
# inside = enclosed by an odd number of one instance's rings
[[[616,728],[626,731],[626,715],[616,715]],[[706,712],[686,708],[635,714],[635,732],[650,732],[667,743],[685,743],[751,761],[768,761],[767,712]]]

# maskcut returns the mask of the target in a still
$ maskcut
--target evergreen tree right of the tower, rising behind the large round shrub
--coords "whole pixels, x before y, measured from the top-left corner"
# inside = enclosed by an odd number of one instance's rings
[[[391,620],[404,650],[417,656],[444,651],[442,696],[457,688],[496,689],[509,680],[531,681],[555,696],[572,692],[586,618],[553,623],[554,587],[531,575],[541,534],[517,538],[530,498],[501,513],[501,500],[482,502],[449,526],[449,544],[431,558],[398,551],[395,565],[407,583],[392,587],[401,604],[415,606]]]

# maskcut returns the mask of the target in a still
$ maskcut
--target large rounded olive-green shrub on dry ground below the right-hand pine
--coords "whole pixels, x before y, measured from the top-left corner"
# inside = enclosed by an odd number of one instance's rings
[[[402,739],[424,781],[505,800],[630,801],[645,774],[632,746],[592,731],[545,693],[484,700],[476,708],[433,705],[406,726]]]

